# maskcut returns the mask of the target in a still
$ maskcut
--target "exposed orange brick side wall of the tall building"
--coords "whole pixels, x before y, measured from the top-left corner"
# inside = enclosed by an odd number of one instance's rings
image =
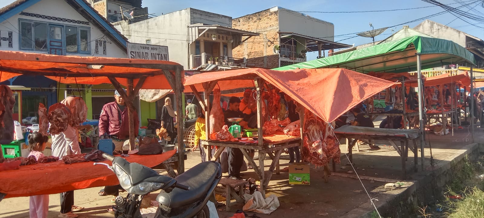
[[[278,11],[265,10],[232,19],[232,28],[260,33],[260,36],[252,36],[232,49],[234,58],[245,57],[249,60],[248,65],[256,67],[272,69],[279,66],[279,55],[273,52],[274,44],[279,44]],[[242,38],[244,39],[245,37]]]

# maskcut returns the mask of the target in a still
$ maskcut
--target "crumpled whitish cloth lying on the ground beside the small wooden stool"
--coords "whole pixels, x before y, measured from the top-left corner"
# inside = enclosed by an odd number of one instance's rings
[[[245,205],[242,210],[245,212],[252,211],[259,214],[271,214],[279,207],[279,200],[277,196],[270,195],[266,199],[262,196],[262,193],[255,191],[254,194],[244,194]]]

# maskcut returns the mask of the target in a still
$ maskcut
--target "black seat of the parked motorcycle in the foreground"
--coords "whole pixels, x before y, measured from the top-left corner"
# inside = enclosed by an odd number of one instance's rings
[[[190,190],[174,188],[170,193],[161,190],[156,197],[156,201],[170,208],[197,202],[207,197],[207,192],[221,175],[219,163],[202,162],[175,178],[178,183],[190,187]]]

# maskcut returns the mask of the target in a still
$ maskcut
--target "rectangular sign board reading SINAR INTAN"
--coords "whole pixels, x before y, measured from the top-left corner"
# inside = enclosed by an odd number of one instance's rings
[[[167,46],[127,43],[127,47],[131,59],[169,61]]]

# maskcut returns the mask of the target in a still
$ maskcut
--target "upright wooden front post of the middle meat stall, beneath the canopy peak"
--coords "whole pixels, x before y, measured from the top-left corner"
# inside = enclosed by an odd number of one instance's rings
[[[262,133],[262,125],[263,125],[263,117],[262,117],[262,89],[263,88],[263,81],[261,78],[256,78],[255,79],[255,85],[257,88],[257,141],[258,141],[258,146],[259,147],[264,147],[264,141],[263,141],[263,133]],[[265,185],[265,171],[264,171],[264,159],[266,158],[266,154],[261,150],[259,150],[259,168],[260,168],[260,191],[262,193],[262,196],[265,198],[266,197],[266,188],[267,186]]]

